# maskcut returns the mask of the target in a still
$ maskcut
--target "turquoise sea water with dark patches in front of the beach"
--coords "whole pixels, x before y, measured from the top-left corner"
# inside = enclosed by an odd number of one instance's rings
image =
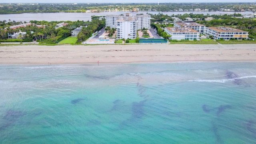
[[[256,64],[1,65],[3,144],[256,143]]]

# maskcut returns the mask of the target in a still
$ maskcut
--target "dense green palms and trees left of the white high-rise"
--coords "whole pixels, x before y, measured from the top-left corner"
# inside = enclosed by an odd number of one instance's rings
[[[66,21],[65,23],[68,23],[68,25],[61,28],[56,28],[56,24],[61,22],[31,20],[31,25],[29,26],[11,29],[10,26],[23,23],[11,20],[9,20],[9,22],[6,20],[0,21],[0,42],[32,42],[33,40],[36,40],[37,42],[40,42],[40,44],[56,44],[68,36],[71,36],[72,30],[79,26],[84,26],[82,27],[82,31],[78,34],[76,42],[74,42],[74,40],[71,42],[79,44],[82,41],[90,38],[94,32],[105,26],[105,19],[102,18],[102,20],[99,20],[96,18],[96,16],[92,16],[92,22],[84,22],[79,20],[76,22]],[[24,22],[24,24],[25,23],[27,22]],[[13,34],[19,31],[26,32],[26,34],[24,34],[24,36],[20,35],[16,40],[8,38],[8,34]]]

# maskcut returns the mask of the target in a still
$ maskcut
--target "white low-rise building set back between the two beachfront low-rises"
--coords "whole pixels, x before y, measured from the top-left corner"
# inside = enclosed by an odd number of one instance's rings
[[[196,22],[174,22],[174,27],[192,28],[193,30],[200,32],[200,34],[203,34],[204,28],[206,26],[204,26],[202,24],[198,24]]]

